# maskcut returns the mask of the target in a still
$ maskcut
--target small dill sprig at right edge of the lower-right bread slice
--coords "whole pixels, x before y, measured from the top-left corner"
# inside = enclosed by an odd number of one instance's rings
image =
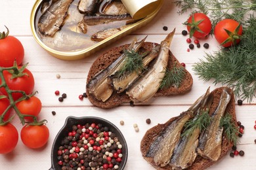
[[[238,126],[234,123],[232,116],[229,113],[226,113],[221,118],[220,127],[223,127],[224,133],[228,138],[228,141],[233,143],[234,145],[238,142]]]

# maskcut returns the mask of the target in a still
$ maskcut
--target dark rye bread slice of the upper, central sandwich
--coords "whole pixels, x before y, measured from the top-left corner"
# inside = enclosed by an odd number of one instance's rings
[[[157,44],[157,43],[144,42],[142,44],[142,47],[140,48],[140,52],[141,53],[150,52],[150,50],[152,50],[153,48],[153,44]],[[127,49],[128,47],[129,47],[129,44],[117,46],[101,54],[95,60],[93,65],[91,65],[91,68],[87,76],[87,84],[91,80],[91,78],[93,78],[93,76],[96,75],[96,73],[98,73],[102,69],[106,69],[106,67],[108,67],[108,65],[110,65],[113,61],[115,61],[123,53],[123,50]],[[171,51],[169,51],[169,56],[170,56],[170,59],[167,65],[169,69],[171,69],[174,66],[175,62],[177,67],[183,67],[181,63],[179,63],[179,61],[175,58],[175,56],[173,56]],[[190,89],[192,88],[193,79],[190,73],[186,69],[185,71],[186,71],[185,78],[182,81],[181,86],[179,86],[179,88],[171,87],[163,90],[158,90],[158,92],[154,95],[154,97],[163,96],[163,95],[178,95],[178,94],[189,92]],[[131,99],[129,99],[129,96],[126,95],[125,92],[123,93],[114,92],[112,96],[105,102],[98,101],[91,93],[89,93],[87,88],[86,88],[86,93],[93,105],[103,109],[109,109],[109,108],[121,105],[122,103],[128,103],[131,101]]]

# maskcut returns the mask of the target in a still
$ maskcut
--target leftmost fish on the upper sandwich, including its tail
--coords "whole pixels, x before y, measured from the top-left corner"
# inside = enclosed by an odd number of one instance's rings
[[[129,46],[128,50],[139,50],[140,46],[142,46],[146,37],[142,39],[142,41],[135,43],[133,41]],[[89,93],[92,93],[98,101],[105,102],[114,92],[109,80],[108,76],[116,73],[119,70],[119,67],[123,64],[123,60],[125,59],[126,54],[122,54],[119,58],[116,59],[111,65],[109,65],[106,69],[97,73],[87,84],[87,88]]]

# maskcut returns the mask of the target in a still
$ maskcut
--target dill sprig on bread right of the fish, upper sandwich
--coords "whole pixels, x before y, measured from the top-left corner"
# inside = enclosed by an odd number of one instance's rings
[[[175,62],[175,65],[171,70],[166,70],[165,76],[160,84],[160,89],[169,88],[171,86],[179,88],[185,75],[186,72],[184,67],[177,67],[177,63]]]

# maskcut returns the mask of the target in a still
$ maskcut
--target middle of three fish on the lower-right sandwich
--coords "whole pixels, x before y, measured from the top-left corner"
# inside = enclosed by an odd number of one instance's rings
[[[205,93],[205,97],[202,100],[202,106],[198,110],[197,114],[201,114],[209,110],[211,107],[211,103],[213,101],[213,95],[209,93],[209,88]],[[186,169],[190,167],[196,156],[198,155],[196,152],[196,148],[198,147],[198,137],[200,135],[199,127],[194,129],[190,136],[184,135],[179,140],[179,143],[175,147],[173,155],[171,156],[170,165],[172,169]]]

